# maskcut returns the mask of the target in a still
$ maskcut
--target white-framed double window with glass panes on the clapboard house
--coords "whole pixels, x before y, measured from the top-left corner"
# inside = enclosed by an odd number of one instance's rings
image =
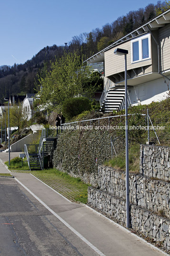
[[[150,34],[131,40],[131,62],[150,59]]]

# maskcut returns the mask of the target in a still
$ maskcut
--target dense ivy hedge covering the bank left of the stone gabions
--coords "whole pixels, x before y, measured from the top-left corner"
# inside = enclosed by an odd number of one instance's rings
[[[111,158],[110,136],[114,134],[108,130],[64,130],[53,154],[53,166],[96,185],[98,164]],[[124,139],[118,139],[115,147],[120,151]]]

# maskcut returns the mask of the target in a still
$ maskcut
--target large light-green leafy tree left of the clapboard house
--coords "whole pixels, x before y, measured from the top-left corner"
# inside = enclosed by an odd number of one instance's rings
[[[64,53],[51,63],[51,70],[46,71],[45,77],[39,76],[40,105],[51,111],[65,99],[88,96],[92,89],[83,88],[87,76],[90,76],[90,67],[83,64],[80,56],[75,52]]]

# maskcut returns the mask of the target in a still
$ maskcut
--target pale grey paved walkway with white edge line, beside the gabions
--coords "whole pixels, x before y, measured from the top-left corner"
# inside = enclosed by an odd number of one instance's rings
[[[2,154],[3,156],[1,156]],[[8,153],[0,153],[0,159],[3,161],[8,160]],[[6,171],[8,172],[2,162],[0,162],[0,173]],[[32,193],[39,202],[68,226],[72,232],[93,249],[98,249],[100,256],[167,255],[153,250],[153,248],[143,243],[139,237],[128,234],[127,231],[117,224],[111,223],[86,206],[71,203],[30,173],[12,172],[12,174],[25,189]]]

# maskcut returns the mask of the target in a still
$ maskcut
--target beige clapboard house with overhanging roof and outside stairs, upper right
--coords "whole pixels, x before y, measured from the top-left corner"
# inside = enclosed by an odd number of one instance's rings
[[[104,63],[100,106],[105,112],[124,108],[124,57],[114,54],[116,48],[128,50],[128,104],[165,99],[170,89],[170,10],[86,60],[90,65]]]

